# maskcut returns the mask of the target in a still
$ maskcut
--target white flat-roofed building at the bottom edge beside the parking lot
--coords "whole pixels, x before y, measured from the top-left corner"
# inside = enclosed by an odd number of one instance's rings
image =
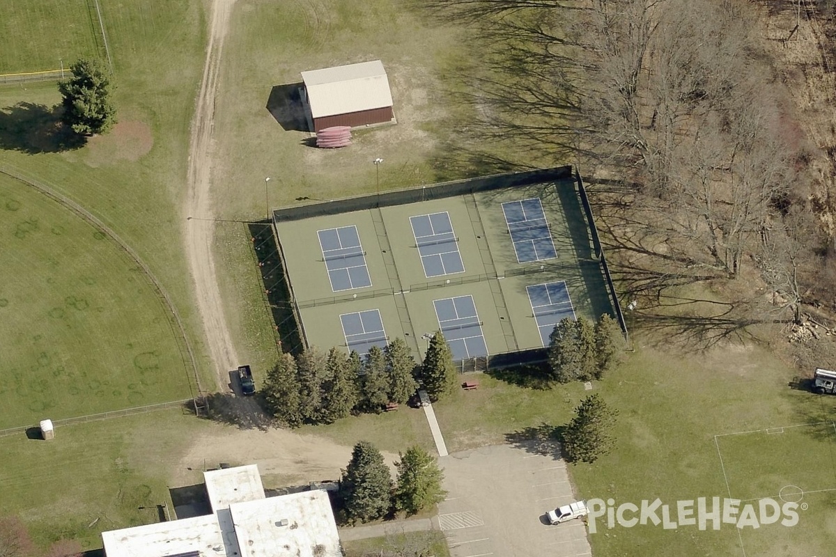
[[[203,476],[212,514],[103,532],[107,557],[341,557],[324,490],[265,497],[254,464]]]

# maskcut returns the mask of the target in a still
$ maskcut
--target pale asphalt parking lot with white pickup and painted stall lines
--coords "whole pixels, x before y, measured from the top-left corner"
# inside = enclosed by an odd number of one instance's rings
[[[580,520],[548,525],[544,514],[576,499],[566,463],[532,445],[500,445],[439,459],[447,499],[439,524],[453,557],[591,555]],[[583,498],[581,498],[583,499]]]

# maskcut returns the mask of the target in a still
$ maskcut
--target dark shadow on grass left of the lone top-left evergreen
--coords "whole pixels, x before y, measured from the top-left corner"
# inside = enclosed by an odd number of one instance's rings
[[[87,138],[64,125],[61,112],[60,105],[23,102],[0,109],[0,149],[39,154],[84,147]]]

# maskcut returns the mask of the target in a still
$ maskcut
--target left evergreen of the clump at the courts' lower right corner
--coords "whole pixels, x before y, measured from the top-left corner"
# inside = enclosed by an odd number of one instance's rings
[[[595,376],[595,331],[584,318],[562,319],[549,337],[548,363],[555,379],[566,383]]]

